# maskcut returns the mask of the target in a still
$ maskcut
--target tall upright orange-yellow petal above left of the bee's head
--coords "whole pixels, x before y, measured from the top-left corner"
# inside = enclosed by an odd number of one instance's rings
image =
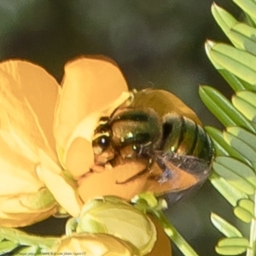
[[[127,91],[125,79],[106,57],[83,57],[67,63],[55,119],[55,138],[61,148],[88,114],[104,108],[123,91]]]

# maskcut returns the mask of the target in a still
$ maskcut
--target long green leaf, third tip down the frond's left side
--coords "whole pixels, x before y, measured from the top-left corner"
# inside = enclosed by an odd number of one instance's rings
[[[224,97],[218,90],[209,86],[201,86],[199,90],[201,100],[224,126],[243,126],[255,131],[253,125]]]

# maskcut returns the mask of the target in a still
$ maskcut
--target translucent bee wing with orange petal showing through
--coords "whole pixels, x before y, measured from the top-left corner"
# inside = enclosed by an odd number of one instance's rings
[[[148,190],[177,201],[207,179],[211,164],[195,156],[156,152]]]

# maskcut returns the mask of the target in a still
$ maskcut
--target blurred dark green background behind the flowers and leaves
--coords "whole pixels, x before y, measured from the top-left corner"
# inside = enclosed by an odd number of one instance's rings
[[[231,0],[216,3],[239,16]],[[200,84],[212,85],[226,96],[232,93],[204,50],[207,38],[227,42],[212,18],[211,4],[212,0],[0,0],[0,60],[32,61],[61,82],[67,61],[108,55],[119,64],[131,89],[170,90],[205,125],[222,129],[198,96]],[[210,223],[210,212],[236,222],[232,208],[210,183],[167,211],[199,255],[216,255],[214,245],[222,236]],[[49,218],[25,230],[60,235],[65,222]],[[173,255],[182,254],[174,247]]]

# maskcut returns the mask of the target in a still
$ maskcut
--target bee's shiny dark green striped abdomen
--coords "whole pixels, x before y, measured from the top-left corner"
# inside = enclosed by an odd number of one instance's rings
[[[204,160],[212,159],[212,143],[201,125],[176,113],[168,113],[163,118],[161,149]]]

